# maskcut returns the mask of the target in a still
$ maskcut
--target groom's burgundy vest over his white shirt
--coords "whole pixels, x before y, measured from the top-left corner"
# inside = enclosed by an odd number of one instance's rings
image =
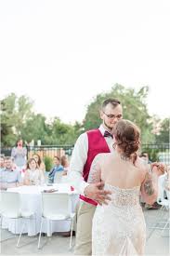
[[[83,177],[85,182],[87,182],[88,180],[91,164],[95,156],[98,155],[99,153],[111,152],[107,142],[105,141],[99,129],[89,130],[86,132],[86,134],[88,138],[88,152],[85,167],[83,170]],[[89,204],[97,205],[97,202],[90,198],[85,197],[84,195],[80,195],[80,198]]]

